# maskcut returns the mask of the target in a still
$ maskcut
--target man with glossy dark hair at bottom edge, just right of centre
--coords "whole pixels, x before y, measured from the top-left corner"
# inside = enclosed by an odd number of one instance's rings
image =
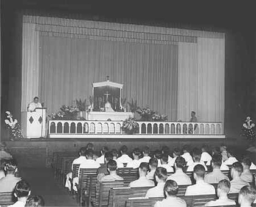
[[[167,180],[163,189],[165,199],[156,202],[154,207],[187,207],[187,203],[177,197],[179,186],[174,180]]]

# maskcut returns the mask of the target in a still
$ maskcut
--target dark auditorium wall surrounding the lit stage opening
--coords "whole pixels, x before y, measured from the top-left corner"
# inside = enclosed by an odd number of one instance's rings
[[[60,3],[63,2],[63,3]],[[79,4],[76,5],[76,2]],[[21,120],[21,34],[22,15],[59,16],[62,18],[94,19],[97,21],[125,22],[187,29],[226,32],[225,68],[225,132],[229,139],[239,137],[241,124],[247,114],[256,120],[252,106],[255,93],[255,25],[248,7],[236,5],[182,5],[165,8],[165,5],[82,5],[81,1],[1,1],[2,17],[2,69],[1,119],[10,110]],[[191,4],[191,3],[190,3]],[[197,15],[196,15],[197,14]],[[243,14],[243,16],[241,15]],[[250,101],[251,100],[251,101]],[[250,102],[250,103],[249,103]],[[1,121],[1,123],[3,123]],[[2,124],[2,129],[4,126]],[[1,137],[7,139],[6,131]]]

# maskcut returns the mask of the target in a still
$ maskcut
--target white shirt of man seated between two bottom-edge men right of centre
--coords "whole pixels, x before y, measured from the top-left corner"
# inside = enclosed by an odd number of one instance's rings
[[[215,188],[213,185],[205,183],[203,180],[199,180],[195,185],[187,187],[185,195],[208,195],[215,194]]]

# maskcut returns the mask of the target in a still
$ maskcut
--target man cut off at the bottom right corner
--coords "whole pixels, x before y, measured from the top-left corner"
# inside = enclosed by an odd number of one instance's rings
[[[244,186],[238,194],[238,203],[240,207],[252,206],[256,201],[256,190],[252,186]]]

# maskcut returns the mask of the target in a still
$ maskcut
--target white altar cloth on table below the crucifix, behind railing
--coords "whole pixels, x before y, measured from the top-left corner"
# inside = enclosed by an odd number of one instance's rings
[[[88,120],[97,121],[124,121],[129,117],[133,118],[132,112],[88,112]]]

